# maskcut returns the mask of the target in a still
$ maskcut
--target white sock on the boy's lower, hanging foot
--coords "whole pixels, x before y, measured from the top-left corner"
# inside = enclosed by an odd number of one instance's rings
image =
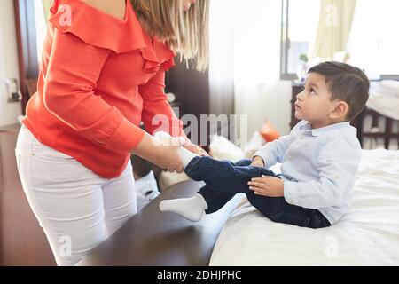
[[[179,198],[160,202],[160,210],[162,212],[173,212],[192,222],[200,221],[206,209],[207,201],[200,193],[197,193],[192,198]]]

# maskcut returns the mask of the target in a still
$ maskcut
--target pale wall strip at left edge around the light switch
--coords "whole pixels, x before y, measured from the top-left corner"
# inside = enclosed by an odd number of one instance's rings
[[[0,126],[18,123],[20,103],[7,103],[5,79],[17,78],[18,51],[12,0],[2,0],[0,9]]]

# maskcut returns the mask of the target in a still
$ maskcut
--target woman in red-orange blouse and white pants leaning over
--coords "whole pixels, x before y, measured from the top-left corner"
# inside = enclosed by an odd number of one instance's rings
[[[204,154],[185,137],[164,81],[175,51],[206,67],[207,13],[207,0],[53,2],[15,152],[57,264],[77,263],[137,212],[130,154],[183,171],[181,144],[148,133],[183,136]],[[153,123],[156,114],[166,121]]]

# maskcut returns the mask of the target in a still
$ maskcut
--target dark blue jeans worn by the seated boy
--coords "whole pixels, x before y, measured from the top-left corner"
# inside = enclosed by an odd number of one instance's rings
[[[200,194],[207,201],[207,214],[221,209],[236,193],[246,193],[246,198],[265,217],[277,223],[309,227],[313,229],[330,226],[317,209],[307,209],[286,202],[284,197],[255,195],[247,185],[253,177],[278,177],[262,167],[250,166],[251,160],[237,163],[216,161],[210,157],[196,157],[184,172],[196,181],[204,181]]]

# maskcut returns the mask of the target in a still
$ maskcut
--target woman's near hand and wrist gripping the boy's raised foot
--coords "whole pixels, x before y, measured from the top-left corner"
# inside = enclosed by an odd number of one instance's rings
[[[153,162],[161,169],[182,173],[184,171],[184,166],[177,152],[181,146],[182,143],[180,138],[165,140],[154,138],[148,133],[145,133],[145,137],[130,153],[137,154],[143,159]]]

